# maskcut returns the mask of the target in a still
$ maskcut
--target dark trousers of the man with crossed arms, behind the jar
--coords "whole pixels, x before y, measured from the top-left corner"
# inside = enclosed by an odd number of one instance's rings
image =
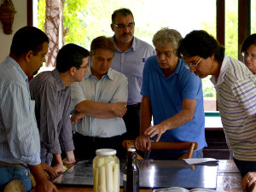
[[[96,149],[113,148],[117,151],[116,156],[125,159],[125,148],[122,146],[122,136],[115,137],[87,137],[75,132],[73,134],[75,146],[75,158],[92,160],[96,156]]]

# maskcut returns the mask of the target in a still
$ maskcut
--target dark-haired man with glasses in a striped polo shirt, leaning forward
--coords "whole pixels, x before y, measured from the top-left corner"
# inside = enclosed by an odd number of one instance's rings
[[[212,75],[227,143],[245,176],[256,172],[256,79],[241,62],[224,55],[224,47],[205,31],[180,42],[178,54],[201,79]],[[250,181],[249,181],[250,182]],[[248,183],[249,183],[248,182]]]

